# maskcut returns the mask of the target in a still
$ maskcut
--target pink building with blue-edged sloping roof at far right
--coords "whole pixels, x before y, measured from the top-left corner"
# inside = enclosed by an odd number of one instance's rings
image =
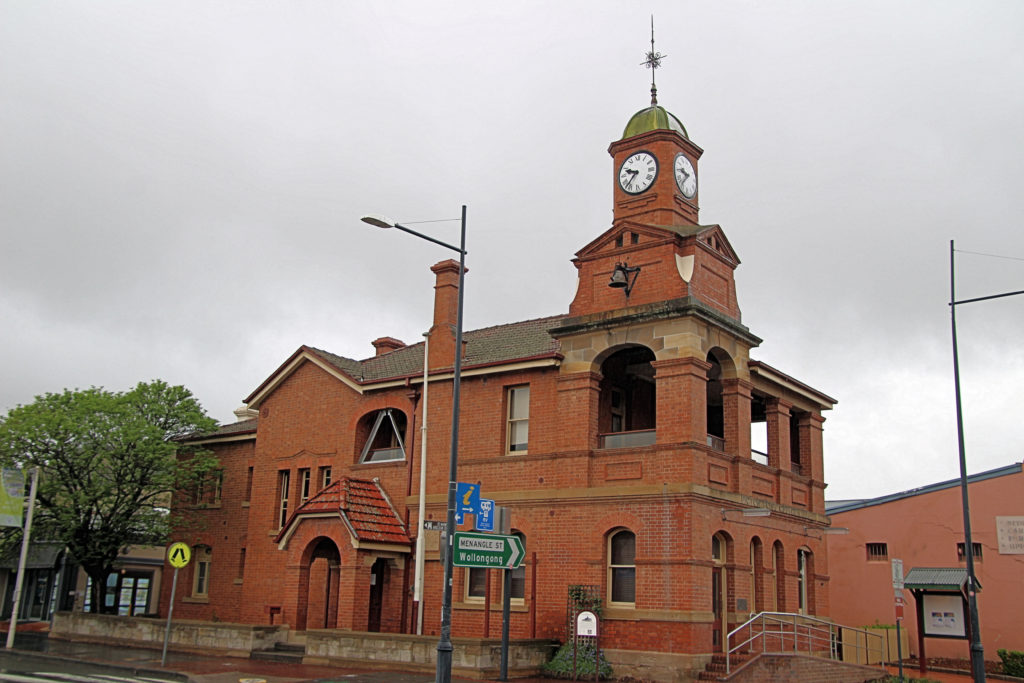
[[[981,642],[1024,650],[1024,473],[1021,464],[975,474],[968,484]],[[966,568],[959,479],[863,501],[826,504],[831,616],[849,626],[895,624],[892,559],[913,567]],[[916,605],[910,591],[903,628],[918,655]],[[970,658],[969,641],[927,638],[929,657]]]

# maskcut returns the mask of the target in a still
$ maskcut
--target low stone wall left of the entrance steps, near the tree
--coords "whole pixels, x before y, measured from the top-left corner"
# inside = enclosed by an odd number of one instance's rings
[[[166,629],[167,621],[162,618],[57,612],[50,638],[162,648]],[[287,626],[172,621],[167,646],[185,652],[248,657],[253,650],[271,649],[275,642],[287,639]]]

